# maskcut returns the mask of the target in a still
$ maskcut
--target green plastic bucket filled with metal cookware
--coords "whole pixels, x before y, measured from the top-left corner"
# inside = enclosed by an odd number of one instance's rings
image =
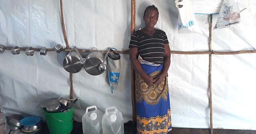
[[[47,126],[50,134],[70,134],[73,130],[74,106],[67,112],[50,113],[43,111],[46,116]]]

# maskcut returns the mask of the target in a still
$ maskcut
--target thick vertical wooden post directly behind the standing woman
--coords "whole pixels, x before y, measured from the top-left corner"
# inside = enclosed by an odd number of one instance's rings
[[[135,0],[131,0],[131,36],[135,32]],[[132,88],[132,121],[136,121],[136,100],[135,100],[135,71],[131,65],[131,88]]]

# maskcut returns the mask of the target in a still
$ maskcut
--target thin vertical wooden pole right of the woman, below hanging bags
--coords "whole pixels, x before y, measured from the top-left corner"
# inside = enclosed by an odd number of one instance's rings
[[[212,51],[212,14],[210,15],[210,29],[209,29],[209,51]],[[212,54],[209,54],[209,92],[210,92],[210,128],[212,128]]]

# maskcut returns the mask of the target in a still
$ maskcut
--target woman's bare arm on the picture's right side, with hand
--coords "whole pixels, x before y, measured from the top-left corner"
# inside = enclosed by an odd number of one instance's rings
[[[160,84],[163,80],[164,77],[167,75],[168,69],[171,64],[171,53],[170,53],[170,46],[169,43],[164,44],[164,68],[162,72],[156,77],[154,84],[158,85]]]

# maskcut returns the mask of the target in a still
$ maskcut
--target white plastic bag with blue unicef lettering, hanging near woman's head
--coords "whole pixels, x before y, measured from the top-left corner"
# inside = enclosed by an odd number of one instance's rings
[[[194,10],[188,0],[175,0],[178,8],[178,33],[201,33],[198,23],[196,22]]]

